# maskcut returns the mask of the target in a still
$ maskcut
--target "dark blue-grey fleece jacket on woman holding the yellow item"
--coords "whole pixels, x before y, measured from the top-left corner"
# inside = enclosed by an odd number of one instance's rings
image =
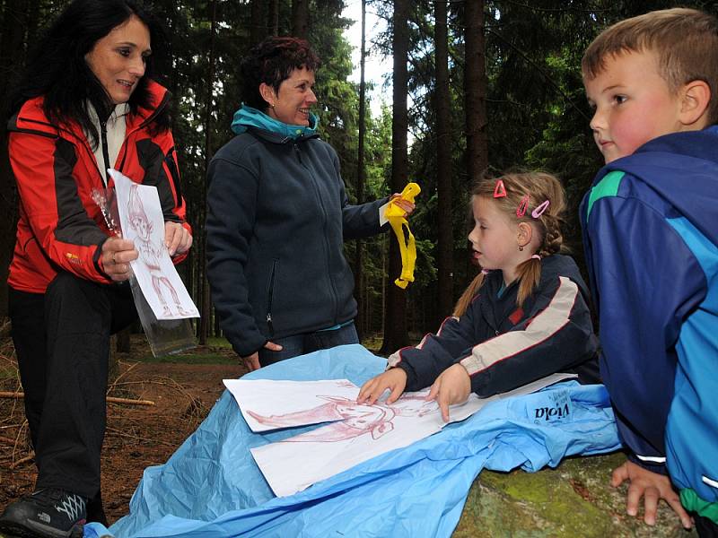
[[[356,316],[343,241],[380,232],[387,199],[348,204],[328,143],[250,127],[215,154],[208,178],[207,276],[234,351]]]

